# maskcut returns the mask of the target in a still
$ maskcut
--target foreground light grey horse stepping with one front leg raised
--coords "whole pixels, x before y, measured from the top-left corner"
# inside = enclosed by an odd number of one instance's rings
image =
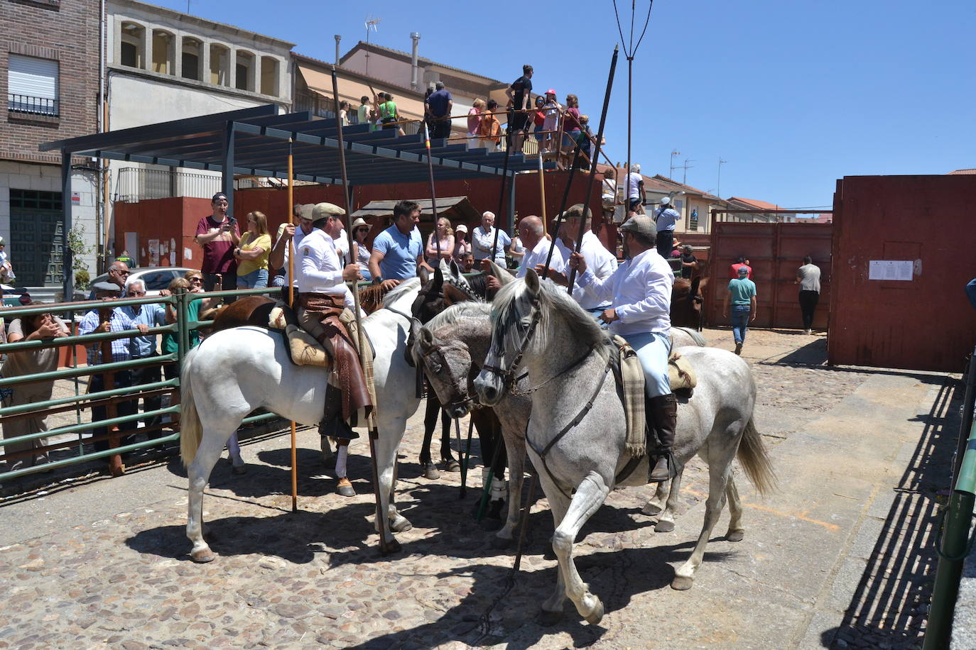
[[[532,271],[523,281],[502,287],[492,322],[492,344],[474,387],[482,403],[495,404],[523,371],[532,386],[526,443],[549,499],[555,521],[552,549],[559,560],[555,592],[542,604],[544,621],[562,615],[568,596],[596,624],[603,603],[580,579],[573,543],[615,485],[643,484],[648,471],[645,456],[629,476],[624,472],[630,461],[627,427],[612,373],[619,356],[589,314]],[[698,386],[678,407],[674,456],[683,465],[700,455],[709,465],[710,485],[701,534],[671,582],[679,590],[691,587],[726,498],[731,513],[727,538],[743,539],[742,504],[731,476],[736,455],[760,492],[775,480],[752,423],[755,384],[749,364],[717,348],[684,347],[680,352],[695,368]]]

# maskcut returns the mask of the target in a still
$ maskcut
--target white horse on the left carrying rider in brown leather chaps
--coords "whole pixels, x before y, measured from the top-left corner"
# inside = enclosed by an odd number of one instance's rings
[[[410,322],[403,314],[420,290],[413,278],[391,290],[380,309],[363,321],[373,343],[376,382],[377,470],[381,511],[389,519],[387,549],[399,550],[393,531],[412,527],[393,504],[396,452],[403,440],[407,418],[420,400],[413,390],[414,368],[404,357]],[[393,311],[395,310],[395,312]],[[399,313],[397,313],[399,312]],[[186,536],[193,542],[190,556],[209,562],[214,554],[203,540],[203,488],[241,421],[257,408],[266,408],[301,424],[322,419],[327,371],[291,362],[278,332],[260,327],[234,327],[216,332],[183,360],[181,442],[189,476]],[[380,521],[377,521],[379,530]]]

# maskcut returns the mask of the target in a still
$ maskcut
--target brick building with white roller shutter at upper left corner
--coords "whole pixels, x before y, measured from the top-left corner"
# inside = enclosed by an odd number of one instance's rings
[[[38,145],[98,130],[100,33],[99,0],[0,2],[0,236],[19,286],[61,285],[62,201],[96,241],[97,162],[72,161],[63,197],[61,156]],[[94,250],[79,261],[94,275]]]

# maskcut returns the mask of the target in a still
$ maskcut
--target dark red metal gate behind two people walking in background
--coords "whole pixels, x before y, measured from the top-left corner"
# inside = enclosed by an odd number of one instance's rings
[[[815,329],[826,330],[831,304],[831,247],[833,226],[828,223],[712,223],[712,251],[706,318],[713,325],[726,325],[722,301],[731,279],[729,267],[739,255],[752,266],[756,288],[758,327],[803,326],[799,310],[796,269],[803,256],[810,255],[820,267],[820,303],[814,313]]]

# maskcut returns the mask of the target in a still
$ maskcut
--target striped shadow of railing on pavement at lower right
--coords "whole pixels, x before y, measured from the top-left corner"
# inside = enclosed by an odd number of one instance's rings
[[[937,495],[949,486],[962,393],[945,378],[929,413],[916,418],[925,427],[912,461],[841,625],[821,635],[824,647],[920,646],[938,562]]]

